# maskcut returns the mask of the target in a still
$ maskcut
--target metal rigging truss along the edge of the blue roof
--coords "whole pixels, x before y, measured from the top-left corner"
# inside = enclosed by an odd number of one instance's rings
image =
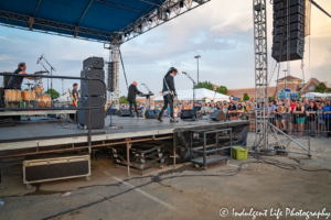
[[[166,0],[157,9],[142,14],[135,22],[115,32],[50,21],[4,10],[0,10],[0,18],[6,19],[7,23],[0,23],[0,25],[93,42],[122,44],[209,1],[211,0]]]

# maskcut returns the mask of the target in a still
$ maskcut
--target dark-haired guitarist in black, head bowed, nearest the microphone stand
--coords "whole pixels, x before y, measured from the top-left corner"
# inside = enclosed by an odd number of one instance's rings
[[[163,89],[162,89],[162,95],[163,95],[163,100],[164,100],[164,106],[161,109],[157,120],[162,122],[162,114],[163,111],[168,108],[168,105],[170,105],[170,123],[175,123],[178,122],[173,118],[173,100],[178,100],[175,88],[174,88],[174,82],[173,82],[173,77],[178,74],[177,68],[171,67],[166,76],[163,77]]]

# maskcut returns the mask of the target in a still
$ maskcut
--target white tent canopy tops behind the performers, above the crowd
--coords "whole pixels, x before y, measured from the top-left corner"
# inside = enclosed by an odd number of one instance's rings
[[[193,100],[193,89],[183,89],[183,90],[177,90],[178,94],[178,100],[181,101],[191,101]],[[194,100],[205,100],[205,101],[229,101],[229,96],[218,94],[209,89],[195,89],[195,97]],[[163,97],[157,97],[153,99],[153,101],[163,101]]]

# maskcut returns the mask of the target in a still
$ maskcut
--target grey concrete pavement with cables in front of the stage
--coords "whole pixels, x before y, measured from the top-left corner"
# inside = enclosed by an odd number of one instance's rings
[[[249,134],[248,145],[253,138]],[[308,144],[307,138],[296,140]],[[0,219],[254,219],[253,208],[260,211],[256,219],[277,219],[281,211],[279,219],[285,219],[286,211],[295,209],[286,219],[303,220],[302,213],[295,212],[323,208],[331,212],[331,173],[300,168],[331,169],[330,141],[311,139],[311,160],[298,154],[257,160],[252,154],[247,161],[231,160],[206,170],[191,163],[152,168],[143,176],[131,169],[130,179],[126,167],[115,168],[109,158],[102,157],[92,163],[90,182],[42,183],[32,190],[22,184],[21,162],[7,162],[2,164]],[[290,148],[300,147],[291,143]],[[61,197],[66,191],[71,195]],[[234,217],[243,209],[246,217]]]

